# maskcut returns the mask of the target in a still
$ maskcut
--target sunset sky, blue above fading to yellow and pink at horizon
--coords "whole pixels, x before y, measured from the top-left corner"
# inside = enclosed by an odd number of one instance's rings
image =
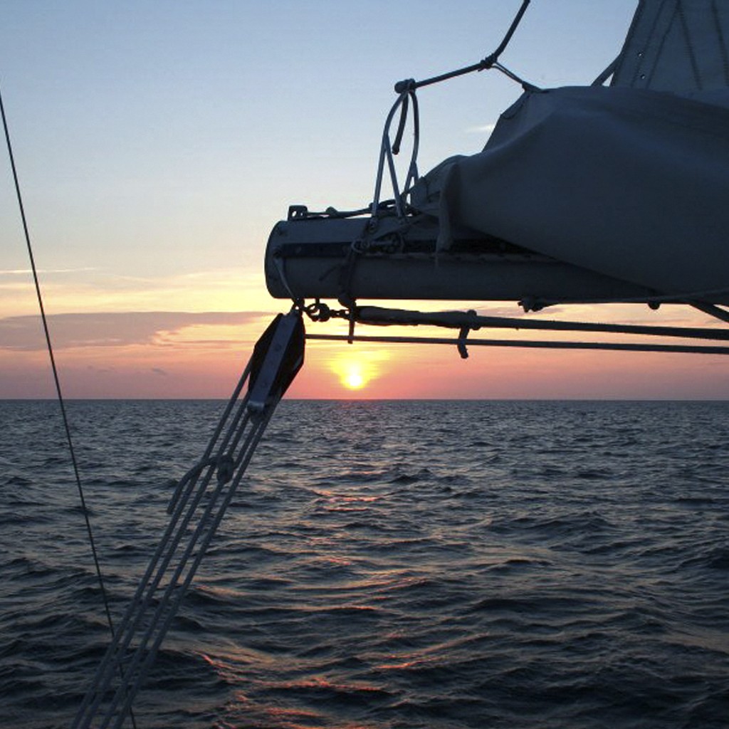
[[[635,4],[533,0],[502,61],[542,87],[588,84]],[[366,206],[394,82],[483,58],[519,5],[3,0],[0,85],[66,397],[227,397],[289,307],[265,289],[273,225],[292,203]],[[519,93],[496,72],[422,89],[421,170],[478,152]],[[53,397],[4,150],[0,233],[0,398]],[[719,356],[311,342],[289,396],[725,399],[729,373]]]

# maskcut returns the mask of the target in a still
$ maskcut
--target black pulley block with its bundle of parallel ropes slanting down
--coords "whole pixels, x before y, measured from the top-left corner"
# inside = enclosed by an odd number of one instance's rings
[[[303,337],[300,311],[293,309],[274,319],[254,347],[203,457],[172,496],[170,521],[85,695],[74,729],[122,725],[276,405],[303,364]],[[117,667],[121,682],[114,690]]]

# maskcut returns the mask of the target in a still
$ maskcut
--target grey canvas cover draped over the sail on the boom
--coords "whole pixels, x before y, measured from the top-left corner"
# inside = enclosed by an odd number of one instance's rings
[[[658,294],[729,289],[729,96],[564,87],[525,93],[480,154],[413,190],[453,224]],[[719,103],[717,103],[719,102]]]

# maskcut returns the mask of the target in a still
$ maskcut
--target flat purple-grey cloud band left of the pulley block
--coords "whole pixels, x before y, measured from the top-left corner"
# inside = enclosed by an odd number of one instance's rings
[[[120,347],[140,344],[187,346],[224,344],[209,336],[211,327],[243,327],[260,321],[262,312],[239,311],[142,311],[66,313],[50,316],[49,329],[54,348]],[[206,336],[207,334],[207,336]],[[241,337],[242,338],[242,337]],[[36,351],[45,348],[39,316],[9,316],[0,319],[0,349]],[[161,370],[157,374],[164,374]]]

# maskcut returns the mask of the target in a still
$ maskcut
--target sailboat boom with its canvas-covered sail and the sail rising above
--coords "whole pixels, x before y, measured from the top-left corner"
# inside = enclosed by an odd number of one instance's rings
[[[371,217],[290,214],[270,292],[729,304],[729,0],[640,0],[593,85],[523,86],[482,152],[396,190],[394,208],[376,192]]]

